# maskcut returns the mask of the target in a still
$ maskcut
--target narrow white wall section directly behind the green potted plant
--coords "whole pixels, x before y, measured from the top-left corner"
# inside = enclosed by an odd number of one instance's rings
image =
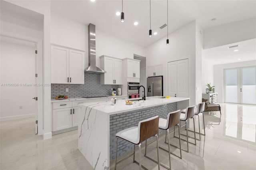
[[[202,93],[206,93],[207,84],[214,85],[214,67],[208,60],[204,59],[202,55]],[[215,89],[216,90],[216,89]]]

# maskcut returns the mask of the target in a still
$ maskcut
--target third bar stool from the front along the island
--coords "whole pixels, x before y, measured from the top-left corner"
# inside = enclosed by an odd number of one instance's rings
[[[180,114],[180,121],[185,121],[185,124],[182,125],[180,128],[182,128],[184,126],[186,128],[187,140],[185,140],[185,141],[187,142],[187,148],[188,148],[188,142],[189,142],[188,141],[188,125],[187,124],[188,124],[188,119],[190,119],[190,118],[193,118],[193,121],[194,121],[194,136],[195,136],[195,143],[192,143],[192,142],[190,142],[190,143],[196,145],[195,119],[194,119],[195,109],[196,109],[195,105],[194,106],[189,106],[189,107],[186,108],[185,113]],[[184,134],[182,134],[182,135],[184,135]],[[174,131],[174,137],[176,137],[175,136],[175,131]],[[184,139],[182,139],[182,140],[184,140]],[[182,150],[184,150],[184,149],[182,149]],[[184,151],[188,152],[188,150],[184,150]]]

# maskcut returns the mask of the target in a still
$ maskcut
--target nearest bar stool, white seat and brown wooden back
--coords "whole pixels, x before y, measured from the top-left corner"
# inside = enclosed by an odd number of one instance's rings
[[[140,121],[138,123],[138,127],[130,127],[130,128],[121,130],[120,132],[116,133],[115,170],[116,170],[116,164],[120,163],[124,159],[129,158],[132,155],[133,155],[133,163],[135,162],[138,165],[140,165],[140,170],[141,170],[141,167],[146,169],[144,166],[141,165],[141,143],[143,141],[145,141],[146,139],[150,138],[151,136],[156,136],[158,170],[160,170],[159,155],[158,155],[158,123],[159,123],[159,117],[155,116],[155,117]],[[118,139],[119,138],[134,144],[134,152],[133,152],[133,154],[130,154],[126,158],[117,162],[117,147],[118,147]],[[137,162],[135,160],[135,145],[139,146],[140,162]]]

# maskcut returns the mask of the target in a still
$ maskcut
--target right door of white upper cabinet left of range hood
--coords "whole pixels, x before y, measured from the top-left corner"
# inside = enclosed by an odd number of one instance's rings
[[[84,52],[69,50],[69,77],[72,84],[84,84]]]

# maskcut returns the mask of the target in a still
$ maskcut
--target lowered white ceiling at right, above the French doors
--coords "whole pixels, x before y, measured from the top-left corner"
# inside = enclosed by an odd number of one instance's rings
[[[228,48],[234,45],[239,46]],[[256,39],[204,49],[202,57],[212,65],[256,60]]]

